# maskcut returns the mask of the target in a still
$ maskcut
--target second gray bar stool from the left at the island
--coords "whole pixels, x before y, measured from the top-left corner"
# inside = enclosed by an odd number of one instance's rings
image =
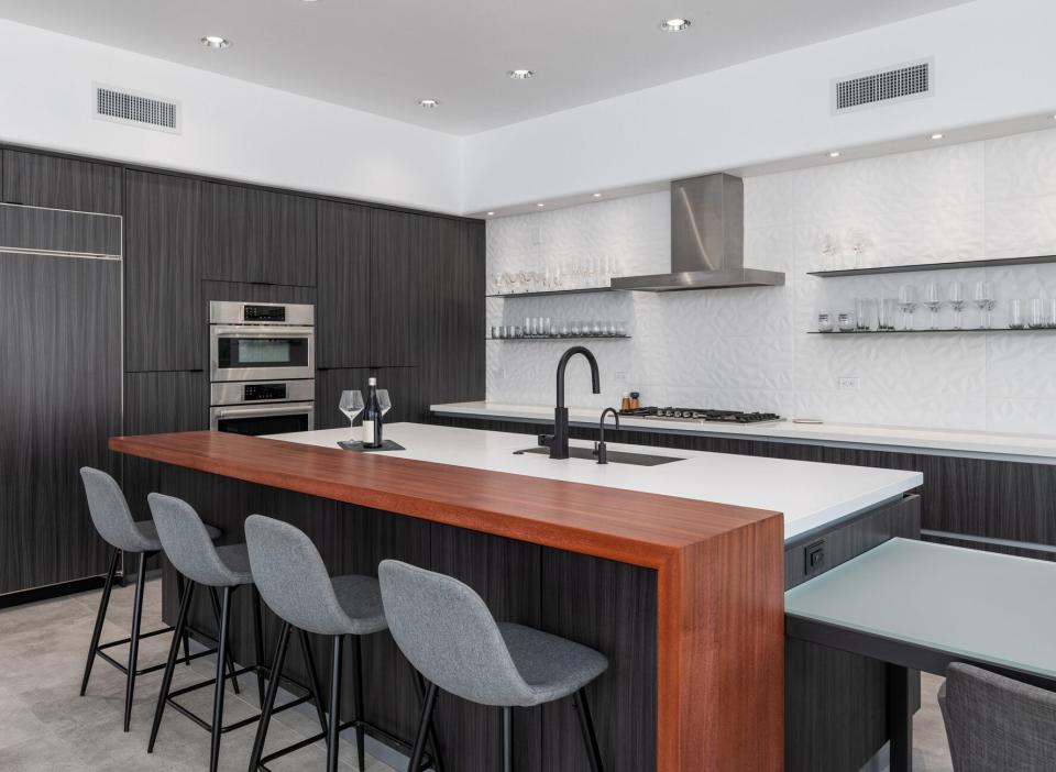
[[[165,712],[165,705],[168,704],[210,732],[209,770],[210,772],[216,772],[220,761],[221,737],[226,732],[252,724],[261,717],[261,714],[257,714],[223,726],[223,694],[227,677],[234,681],[239,675],[254,672],[256,674],[257,690],[260,691],[262,705],[264,702],[265,676],[271,677],[273,685],[277,684],[278,681],[277,675],[276,677],[272,677],[271,671],[264,664],[261,598],[257,593],[254,592],[252,594],[256,662],[245,668],[235,669],[229,650],[231,596],[239,587],[253,584],[245,544],[215,547],[206,526],[202,523],[201,518],[198,517],[198,512],[195,511],[194,507],[179,498],[152,493],[147,496],[147,501],[150,501],[151,512],[154,515],[154,523],[157,527],[157,536],[165,550],[165,555],[176,571],[188,580],[187,589],[179,604],[176,635],[182,636],[187,628],[187,614],[190,608],[190,599],[198,585],[209,587],[210,589],[220,588],[222,594],[222,600],[220,602],[220,646],[217,652],[216,677],[172,691],[173,671],[175,670],[176,660],[178,659],[178,644],[174,639],[168,652],[168,661],[165,663],[162,690],[157,696],[157,708],[154,712],[154,725],[151,728],[147,752],[154,751],[154,742],[157,739],[157,731],[162,725],[162,715]],[[314,672],[315,663],[311,661],[311,655],[307,650],[305,655],[308,659],[309,671]],[[226,672],[227,676],[224,675]],[[176,702],[176,697],[209,685],[215,686],[211,724],[207,724],[204,719]],[[285,703],[278,709],[285,710],[295,705],[300,705],[307,702],[310,698],[309,695],[311,695],[315,697],[320,724],[322,724],[322,703],[318,692],[314,688],[314,684],[308,692],[309,694]]]

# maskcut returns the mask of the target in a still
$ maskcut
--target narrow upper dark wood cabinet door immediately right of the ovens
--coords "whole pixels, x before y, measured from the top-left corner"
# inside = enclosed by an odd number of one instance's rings
[[[365,367],[371,361],[373,210],[319,202],[316,361],[320,367]]]

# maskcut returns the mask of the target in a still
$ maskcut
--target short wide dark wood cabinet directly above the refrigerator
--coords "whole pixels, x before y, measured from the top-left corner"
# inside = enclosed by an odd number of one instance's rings
[[[121,167],[6,150],[3,200],[30,207],[122,214]]]

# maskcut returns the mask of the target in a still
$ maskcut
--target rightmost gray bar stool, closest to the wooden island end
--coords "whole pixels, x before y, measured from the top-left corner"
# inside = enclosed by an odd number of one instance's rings
[[[421,759],[437,691],[503,709],[503,769],[513,769],[513,707],[572,696],[592,772],[602,754],[585,686],[608,668],[597,651],[549,632],[496,622],[481,596],[451,576],[382,561],[385,618],[404,655],[429,682],[409,770]]]

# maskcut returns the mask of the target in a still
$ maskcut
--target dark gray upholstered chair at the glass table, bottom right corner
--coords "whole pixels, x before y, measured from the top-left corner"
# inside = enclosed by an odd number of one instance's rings
[[[1056,770],[1056,693],[955,662],[938,704],[955,772]]]

